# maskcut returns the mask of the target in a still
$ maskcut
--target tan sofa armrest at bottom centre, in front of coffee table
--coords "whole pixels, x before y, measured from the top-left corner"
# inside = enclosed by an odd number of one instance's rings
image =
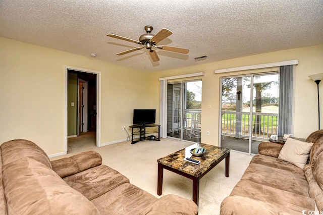
[[[198,212],[197,205],[186,198],[177,195],[163,196],[148,207],[140,211],[143,214],[182,214],[182,215],[196,215]]]

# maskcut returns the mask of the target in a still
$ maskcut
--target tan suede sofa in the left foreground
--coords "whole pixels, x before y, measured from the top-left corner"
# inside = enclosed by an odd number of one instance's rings
[[[95,151],[50,162],[28,140],[0,150],[0,214],[197,214],[191,200],[157,199],[130,184]]]

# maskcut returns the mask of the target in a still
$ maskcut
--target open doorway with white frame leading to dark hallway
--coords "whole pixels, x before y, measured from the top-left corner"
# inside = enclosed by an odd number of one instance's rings
[[[65,67],[64,154],[100,146],[100,72]]]

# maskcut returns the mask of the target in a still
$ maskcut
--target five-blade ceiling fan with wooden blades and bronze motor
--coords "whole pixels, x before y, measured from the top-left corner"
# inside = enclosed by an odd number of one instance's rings
[[[130,50],[126,50],[126,51],[117,53],[116,55],[125,55],[126,53],[130,53],[132,51],[140,50],[140,49],[145,47],[145,48],[147,48],[149,50],[149,55],[150,55],[152,61],[156,62],[156,61],[159,61],[159,58],[157,56],[156,51],[154,49],[152,49],[152,47],[155,47],[155,48],[161,49],[161,50],[173,51],[173,52],[184,53],[184,54],[187,54],[189,52],[189,49],[186,49],[186,48],[178,48],[178,47],[166,46],[166,45],[156,45],[161,40],[163,40],[163,39],[167,38],[168,36],[170,36],[171,34],[173,34],[173,32],[166,29],[166,28],[163,28],[156,35],[153,35],[153,34],[150,33],[152,31],[152,29],[153,28],[150,25],[145,26],[145,31],[147,33],[141,35],[139,37],[139,41],[129,39],[129,38],[126,38],[126,37],[123,37],[123,36],[118,36],[116,34],[106,34],[106,36],[110,36],[110,37],[114,37],[114,38],[117,38],[117,39],[122,39],[122,40],[126,40],[126,41],[129,41],[129,42],[137,43],[139,45],[143,45],[142,47],[132,48]]]

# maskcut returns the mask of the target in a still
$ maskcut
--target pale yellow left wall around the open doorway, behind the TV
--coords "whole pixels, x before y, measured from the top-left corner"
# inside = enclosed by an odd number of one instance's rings
[[[133,109],[150,106],[147,72],[2,37],[0,47],[0,143],[64,151],[65,65],[101,72],[101,144],[126,139]]]

